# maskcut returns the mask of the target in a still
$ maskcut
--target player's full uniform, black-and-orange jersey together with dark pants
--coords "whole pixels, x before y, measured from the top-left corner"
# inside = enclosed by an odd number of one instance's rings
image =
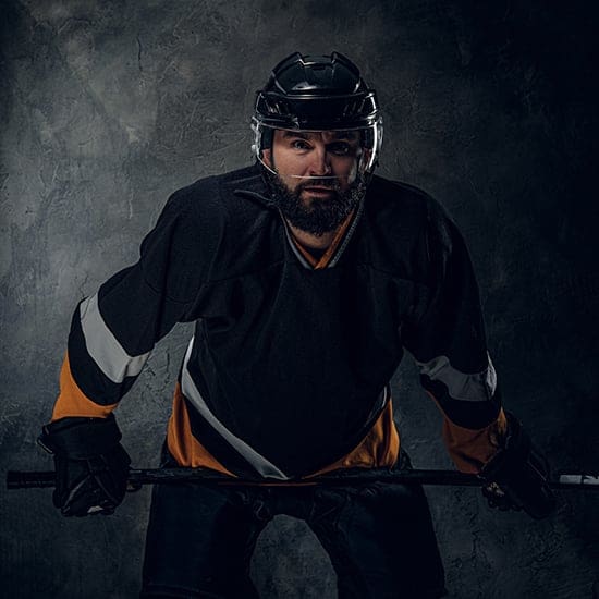
[[[294,239],[257,167],[174,193],[139,260],[78,305],[52,419],[109,415],[180,321],[196,325],[166,465],[258,482],[405,467],[389,390],[405,351],[461,470],[478,472],[504,433],[466,247],[411,186],[374,176],[317,255]],[[314,530],[340,597],[443,594],[418,486],[157,485],[142,597],[257,597],[249,557],[278,513]]]

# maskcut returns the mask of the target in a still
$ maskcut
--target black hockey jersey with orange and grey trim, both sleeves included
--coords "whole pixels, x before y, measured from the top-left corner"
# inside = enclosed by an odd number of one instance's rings
[[[174,193],[139,260],[75,311],[52,419],[108,415],[179,321],[196,321],[168,426],[180,465],[288,479],[394,464],[404,349],[460,469],[478,472],[505,426],[464,242],[401,183],[374,176],[319,258],[256,167]]]

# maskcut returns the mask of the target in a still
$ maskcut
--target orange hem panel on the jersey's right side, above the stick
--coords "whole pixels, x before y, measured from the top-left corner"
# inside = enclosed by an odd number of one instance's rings
[[[393,421],[393,405],[390,400],[372,428],[354,450],[310,476],[319,476],[340,468],[391,467],[399,455],[400,436]]]

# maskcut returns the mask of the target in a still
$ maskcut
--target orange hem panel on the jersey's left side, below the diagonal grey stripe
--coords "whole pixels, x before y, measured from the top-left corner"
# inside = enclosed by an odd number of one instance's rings
[[[229,472],[193,435],[187,407],[179,382],[174,389],[173,409],[169,418],[167,445],[180,466],[210,468],[221,474]]]

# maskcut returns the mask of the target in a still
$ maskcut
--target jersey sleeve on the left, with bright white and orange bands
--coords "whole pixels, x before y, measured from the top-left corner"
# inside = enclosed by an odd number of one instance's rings
[[[52,420],[106,417],[134,383],[155,344],[178,321],[190,319],[206,271],[207,248],[196,220],[188,198],[173,194],[144,239],[139,260],[78,304]]]

